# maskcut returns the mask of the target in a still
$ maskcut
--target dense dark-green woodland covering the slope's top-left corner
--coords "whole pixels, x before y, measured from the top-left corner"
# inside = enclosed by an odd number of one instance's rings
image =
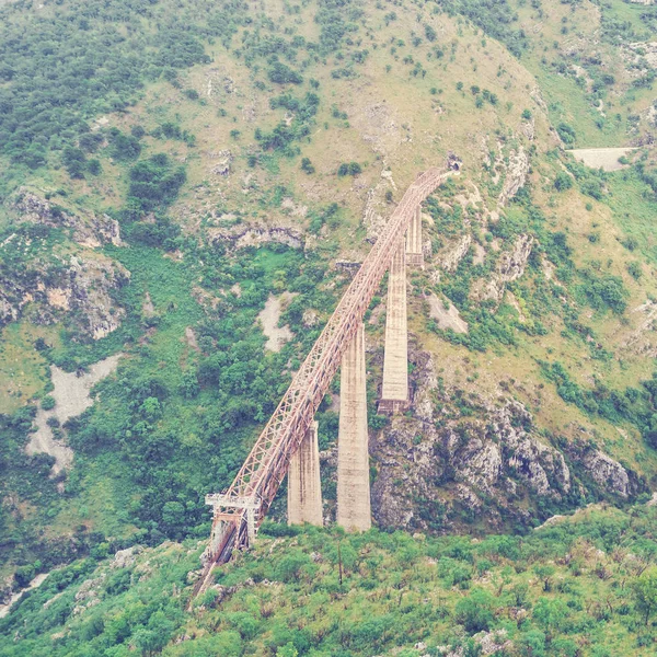
[[[0,8],[0,151],[32,169],[62,149],[70,166],[67,147],[85,143],[91,119],[126,110],[147,81],[207,61],[201,39],[228,44],[243,15],[241,2],[187,7],[180,20],[155,1],[53,3],[41,15],[31,4]]]

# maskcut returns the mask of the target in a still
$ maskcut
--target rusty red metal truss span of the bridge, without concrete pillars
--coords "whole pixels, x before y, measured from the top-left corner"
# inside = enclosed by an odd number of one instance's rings
[[[290,458],[328,391],[344,350],[362,322],[395,250],[403,244],[416,208],[453,170],[458,170],[458,165],[451,162],[447,169],[429,169],[406,189],[232,485],[222,494],[206,496],[206,503],[214,509],[214,521],[210,543],[204,554],[206,567],[197,581],[196,593],[207,585],[216,563],[226,563],[234,549],[249,546],[255,539],[287,474]]]

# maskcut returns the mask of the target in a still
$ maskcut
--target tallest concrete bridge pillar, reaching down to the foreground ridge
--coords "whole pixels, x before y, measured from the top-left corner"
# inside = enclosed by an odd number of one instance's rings
[[[371,525],[365,326],[360,324],[342,359],[337,439],[337,523],[347,531]]]

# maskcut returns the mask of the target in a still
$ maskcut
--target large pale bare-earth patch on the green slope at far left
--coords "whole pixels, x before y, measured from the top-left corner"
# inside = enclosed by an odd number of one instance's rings
[[[54,474],[71,464],[73,450],[62,440],[55,438],[53,429],[47,424],[48,418],[56,417],[59,424],[64,424],[70,417],[76,417],[87,411],[93,404],[93,400],[89,396],[91,389],[116,369],[120,357],[122,354],[115,354],[105,360],[100,360],[81,377],[78,377],[76,372],[65,372],[56,366],[50,367],[53,385],[55,385],[55,390],[50,394],[56,401],[55,408],[44,411],[39,406],[36,412],[36,431],[31,435],[25,451],[28,454],[46,452],[55,457]]]

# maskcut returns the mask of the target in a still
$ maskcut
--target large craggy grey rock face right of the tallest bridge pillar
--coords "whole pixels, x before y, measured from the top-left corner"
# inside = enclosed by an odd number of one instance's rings
[[[370,440],[380,525],[447,530],[476,518],[503,529],[504,518],[530,526],[551,515],[542,508],[578,506],[585,487],[625,498],[639,491],[634,473],[589,443],[569,443],[562,453],[520,402],[440,391],[430,357],[413,358],[414,416],[392,418]],[[540,500],[550,504],[533,508]]]

